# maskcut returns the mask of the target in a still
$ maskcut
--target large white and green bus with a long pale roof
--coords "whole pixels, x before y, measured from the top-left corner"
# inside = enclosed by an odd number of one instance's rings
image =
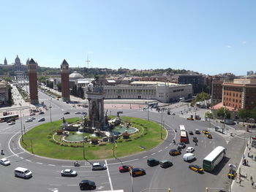
[[[220,161],[226,155],[226,148],[222,146],[216,147],[211,153],[209,153],[206,158],[203,159],[203,169],[207,172],[214,170],[215,166],[219,164]]]

